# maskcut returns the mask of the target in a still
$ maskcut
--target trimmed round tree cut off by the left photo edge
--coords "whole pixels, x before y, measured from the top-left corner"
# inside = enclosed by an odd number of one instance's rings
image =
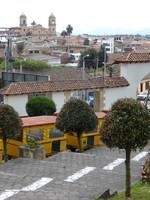
[[[7,104],[0,104],[0,137],[3,140],[4,161],[7,157],[7,141],[13,138],[22,129],[22,121],[13,107]]]

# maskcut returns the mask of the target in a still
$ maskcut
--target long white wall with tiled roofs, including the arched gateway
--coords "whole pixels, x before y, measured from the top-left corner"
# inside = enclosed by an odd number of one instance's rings
[[[0,89],[0,94],[5,104],[13,106],[20,115],[27,115],[25,105],[31,95],[45,94],[54,100],[59,112],[74,91],[90,89],[94,92],[94,111],[109,110],[120,98],[136,99],[140,81],[150,72],[150,53],[125,53],[115,63],[120,65],[120,77],[18,82]]]

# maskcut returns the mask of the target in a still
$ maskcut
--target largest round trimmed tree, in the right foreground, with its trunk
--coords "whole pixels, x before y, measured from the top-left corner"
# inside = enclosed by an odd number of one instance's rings
[[[131,196],[130,155],[143,149],[150,139],[150,112],[132,98],[116,101],[101,126],[102,141],[110,148],[124,149],[126,154],[126,191]]]

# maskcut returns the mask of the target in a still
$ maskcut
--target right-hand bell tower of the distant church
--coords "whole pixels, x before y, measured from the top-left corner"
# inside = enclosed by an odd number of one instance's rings
[[[53,36],[56,36],[56,17],[53,13],[51,13],[51,15],[48,18],[48,28],[52,38]]]

